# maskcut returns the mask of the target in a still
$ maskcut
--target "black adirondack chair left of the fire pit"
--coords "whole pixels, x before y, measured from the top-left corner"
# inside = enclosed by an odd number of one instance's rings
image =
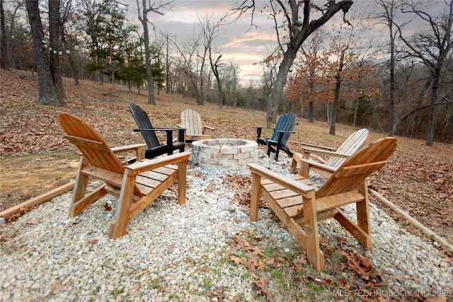
[[[185,129],[177,128],[154,128],[151,124],[151,120],[142,108],[139,105],[130,103],[129,105],[132,116],[134,117],[135,122],[139,129],[134,129],[134,131],[139,131],[142,133],[145,143],[147,143],[148,149],[144,153],[145,158],[155,158],[163,154],[171,155],[173,151],[179,149],[180,152],[184,151],[185,142],[184,142],[184,132]],[[156,132],[164,131],[166,132],[166,145],[161,144],[159,139],[156,137]],[[178,131],[178,141],[173,142],[173,132]],[[134,158],[129,161],[133,163]]]

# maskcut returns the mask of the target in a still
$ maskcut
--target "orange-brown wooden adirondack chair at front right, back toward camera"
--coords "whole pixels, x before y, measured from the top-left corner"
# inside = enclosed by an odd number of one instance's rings
[[[318,222],[323,219],[333,217],[366,249],[369,249],[371,228],[367,177],[382,168],[395,149],[396,139],[393,137],[375,141],[347,158],[319,189],[301,175],[290,178],[249,163],[247,165],[252,172],[251,220],[258,220],[261,196],[299,244],[306,249],[309,262],[318,272],[324,267],[318,233]],[[357,223],[341,209],[351,203],[356,204]]]

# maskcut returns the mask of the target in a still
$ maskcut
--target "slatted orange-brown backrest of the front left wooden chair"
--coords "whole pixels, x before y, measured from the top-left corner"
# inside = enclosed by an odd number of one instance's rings
[[[59,115],[59,123],[66,133],[65,137],[81,151],[93,167],[118,174],[124,173],[125,168],[120,160],[93,127],[69,113]]]

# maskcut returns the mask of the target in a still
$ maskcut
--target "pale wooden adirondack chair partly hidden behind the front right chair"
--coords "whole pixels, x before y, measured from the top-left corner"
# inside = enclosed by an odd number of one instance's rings
[[[301,153],[294,152],[292,156],[291,168],[289,172],[296,173],[297,164],[299,164],[299,175],[304,176],[305,178],[309,177],[310,170],[314,170],[319,175],[322,175],[325,178],[329,178],[332,173],[346,161],[346,158],[351,156],[355,151],[360,149],[360,147],[367,139],[368,130],[360,129],[353,132],[341,146],[336,149],[326,146],[317,146],[312,144],[305,144],[299,141],[294,141],[294,144],[300,144]],[[327,161],[319,163],[317,161],[309,160],[310,154],[321,154],[326,156],[331,156]],[[302,161],[304,158],[306,161]],[[322,158],[318,159],[322,161]]]

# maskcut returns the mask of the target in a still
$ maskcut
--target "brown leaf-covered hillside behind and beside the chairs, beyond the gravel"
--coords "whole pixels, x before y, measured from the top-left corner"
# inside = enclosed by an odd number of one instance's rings
[[[35,105],[36,74],[1,71],[0,76],[0,211],[48,192],[73,179],[77,166],[75,149],[63,138],[58,124],[61,112],[71,112],[95,127],[111,146],[142,142],[128,110],[131,102],[149,113],[154,127],[176,127],[180,112],[193,108],[205,124],[216,128],[216,137],[256,139],[256,126],[265,125],[265,112],[206,103],[194,98],[161,92],[156,106],[147,95],[130,92],[127,86],[81,81],[75,86],[64,79],[67,105],[55,108]],[[355,129],[337,124],[336,136],[328,134],[326,122],[310,124],[299,117],[291,141],[338,147]],[[271,129],[265,129],[270,134]],[[370,132],[367,143],[385,134]],[[372,176],[372,187],[415,219],[453,243],[453,146],[433,147],[417,139],[397,137],[398,149],[382,170]],[[247,188],[245,188],[247,190]],[[373,202],[378,202],[372,197]],[[381,207],[385,208],[382,204]],[[392,212],[389,210],[389,213]],[[394,214],[392,214],[394,215]],[[401,223],[407,224],[401,219]],[[411,228],[411,226],[407,226]],[[415,228],[414,232],[418,232]]]

